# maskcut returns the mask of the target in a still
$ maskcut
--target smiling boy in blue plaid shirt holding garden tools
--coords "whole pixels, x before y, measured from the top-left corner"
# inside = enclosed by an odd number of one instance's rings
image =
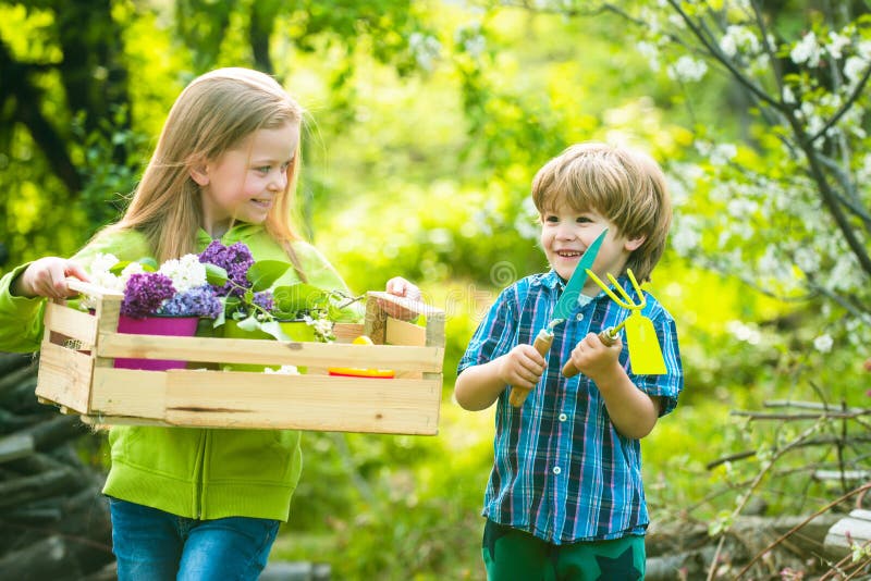
[[[532,182],[545,274],[505,288],[459,361],[456,399],[498,401],[495,458],[484,495],[482,553],[491,581],[642,579],[649,518],[639,440],[677,405],[683,370],[674,320],[645,293],[667,369],[636,375],[623,343],[597,334],[629,312],[587,280],[575,312],[554,329],[545,357],[532,347],[584,251],[608,227],[592,271],[636,301],[626,269],[643,282],[662,256],[671,201],[653,160],[602,144],[569,147]],[[566,379],[572,360],[580,374]],[[512,387],[531,388],[524,405]]]

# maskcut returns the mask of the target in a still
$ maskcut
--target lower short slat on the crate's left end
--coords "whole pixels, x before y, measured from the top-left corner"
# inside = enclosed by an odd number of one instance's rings
[[[36,395],[79,413],[88,407],[94,359],[89,356],[44,343],[39,356]]]

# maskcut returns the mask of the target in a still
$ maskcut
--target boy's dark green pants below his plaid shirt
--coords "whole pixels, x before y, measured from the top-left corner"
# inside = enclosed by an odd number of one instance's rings
[[[645,537],[553,545],[488,519],[483,563],[489,581],[630,581],[645,578]]]

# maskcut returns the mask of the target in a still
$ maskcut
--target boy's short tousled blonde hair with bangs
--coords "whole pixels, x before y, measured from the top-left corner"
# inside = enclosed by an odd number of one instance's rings
[[[626,268],[639,281],[650,280],[672,223],[665,176],[652,158],[605,144],[574,145],[536,174],[532,200],[542,214],[565,202],[577,212],[596,211],[627,239],[643,236]]]

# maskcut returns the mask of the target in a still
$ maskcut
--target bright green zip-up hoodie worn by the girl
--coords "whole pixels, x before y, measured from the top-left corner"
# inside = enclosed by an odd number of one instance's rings
[[[199,250],[211,242],[198,233]],[[261,226],[241,224],[221,238],[245,243],[255,260],[287,260],[284,249]],[[293,245],[309,283],[347,292],[339,273],[306,243]],[[98,236],[73,259],[87,265],[98,252],[121,260],[151,256],[134,231]],[[0,279],[0,349],[36,351],[42,335],[44,298],[14,297],[12,281],[27,264]],[[298,279],[291,269],[275,284]],[[22,329],[24,331],[22,332]],[[112,466],[103,493],[194,519],[256,517],[287,520],[299,480],[299,432],[287,430],[208,430],[113,427],[109,433]]]

